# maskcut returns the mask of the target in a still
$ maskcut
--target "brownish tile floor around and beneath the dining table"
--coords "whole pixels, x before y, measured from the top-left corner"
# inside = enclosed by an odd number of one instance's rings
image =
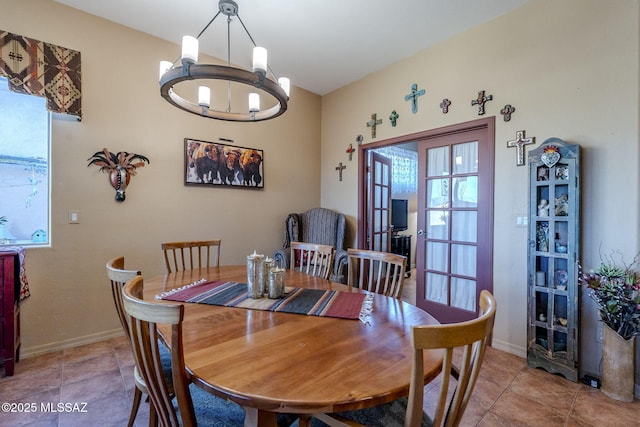
[[[410,281],[409,281],[410,282]],[[410,289],[409,285],[409,289]],[[0,426],[126,426],[133,397],[133,356],[126,338],[25,359],[15,375],[0,370],[0,402],[33,412],[0,411]],[[438,380],[425,389],[425,409]],[[86,403],[86,412],[47,412],[42,405]],[[142,403],[136,426],[148,425]],[[526,366],[526,361],[487,349],[463,426],[638,426],[640,400],[623,403],[599,390]]]

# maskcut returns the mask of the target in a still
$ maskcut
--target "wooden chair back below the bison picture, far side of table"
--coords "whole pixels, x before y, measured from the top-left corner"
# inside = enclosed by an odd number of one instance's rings
[[[220,266],[220,239],[162,243],[167,273]]]

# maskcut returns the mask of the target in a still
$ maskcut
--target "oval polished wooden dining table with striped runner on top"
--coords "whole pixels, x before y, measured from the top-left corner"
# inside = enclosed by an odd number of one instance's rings
[[[220,266],[144,279],[145,300],[194,283],[246,283],[246,267]],[[286,270],[287,287],[362,292]],[[184,359],[190,379],[245,409],[245,426],[275,426],[277,413],[314,414],[371,407],[407,396],[410,331],[431,315],[375,294],[366,321],[184,303]],[[161,333],[169,328],[160,326]],[[167,336],[167,335],[165,335]],[[425,351],[425,384],[442,368]]]

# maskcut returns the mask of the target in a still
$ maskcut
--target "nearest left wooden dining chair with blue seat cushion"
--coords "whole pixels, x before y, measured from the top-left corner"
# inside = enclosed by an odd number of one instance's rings
[[[140,367],[153,405],[149,425],[177,426],[243,426],[245,413],[234,402],[218,398],[189,384],[184,364],[182,321],[184,305],[142,300],[142,276],[136,276],[122,290],[124,309],[129,316],[133,354]],[[172,401],[167,378],[163,374],[157,324],[171,325],[169,347],[171,379],[177,404]],[[195,402],[195,404],[194,404]]]

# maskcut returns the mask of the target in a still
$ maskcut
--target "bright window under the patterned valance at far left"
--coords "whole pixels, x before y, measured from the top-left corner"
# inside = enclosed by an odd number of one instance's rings
[[[50,119],[45,98],[0,76],[0,247],[49,245]]]

